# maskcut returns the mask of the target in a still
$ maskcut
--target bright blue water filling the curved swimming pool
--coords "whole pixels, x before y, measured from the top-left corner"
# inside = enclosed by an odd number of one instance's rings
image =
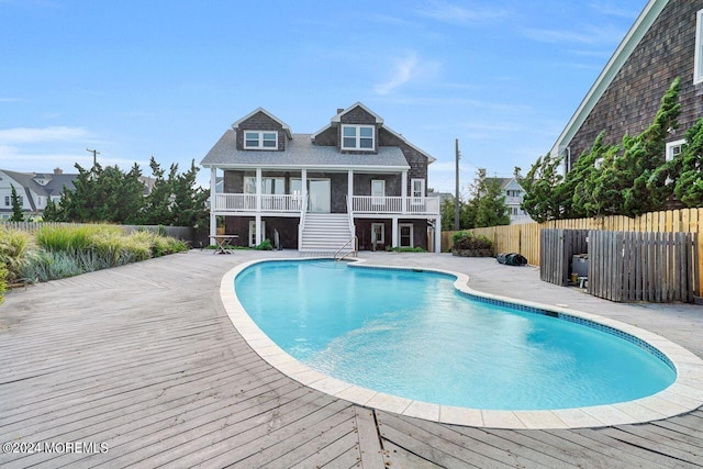
[[[326,260],[235,279],[256,324],[311,368],[389,394],[486,410],[631,401],[676,380],[652,353],[549,315],[471,300],[454,277]]]

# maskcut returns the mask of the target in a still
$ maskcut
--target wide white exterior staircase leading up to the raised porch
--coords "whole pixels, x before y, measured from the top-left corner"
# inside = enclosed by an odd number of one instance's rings
[[[349,238],[349,217],[346,213],[306,213],[302,237],[299,241],[301,253],[334,254]],[[349,243],[342,253],[354,249]]]

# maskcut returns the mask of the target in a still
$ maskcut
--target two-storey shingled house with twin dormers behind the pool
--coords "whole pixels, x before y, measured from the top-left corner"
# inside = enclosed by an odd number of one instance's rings
[[[201,163],[211,168],[210,233],[223,217],[239,245],[268,238],[330,253],[356,235],[360,249],[439,252],[439,198],[427,197],[432,161],[361,103],[337,110],[314,134],[294,134],[259,108],[232,124]]]

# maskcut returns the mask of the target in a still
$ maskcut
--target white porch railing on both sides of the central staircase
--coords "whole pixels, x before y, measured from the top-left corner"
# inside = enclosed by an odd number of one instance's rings
[[[261,194],[261,212],[300,212],[301,196]],[[255,193],[216,193],[215,212],[256,212]],[[439,213],[438,197],[377,197],[354,196],[352,210],[356,213],[436,215]]]

